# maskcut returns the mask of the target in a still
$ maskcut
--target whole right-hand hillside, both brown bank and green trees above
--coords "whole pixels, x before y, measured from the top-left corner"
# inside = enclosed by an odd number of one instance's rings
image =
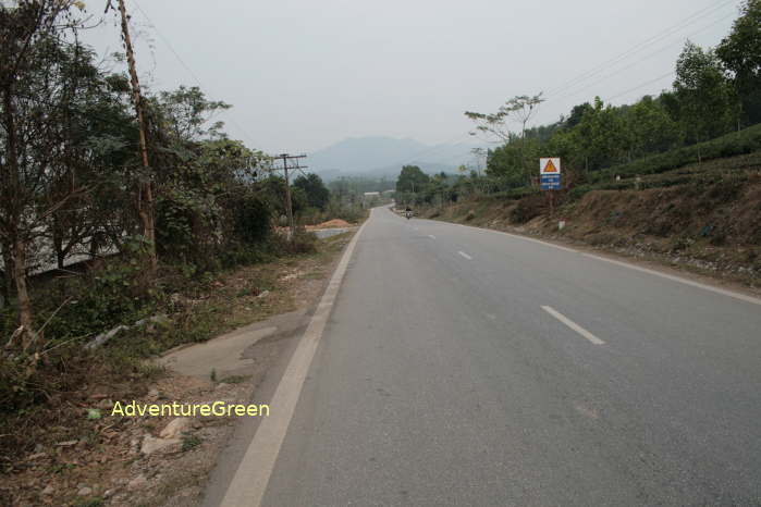
[[[397,201],[429,218],[679,259],[759,285],[761,0],[744,2],[717,47],[688,41],[673,87],[656,97],[618,107],[594,98],[529,127],[543,100],[467,112],[474,134],[499,146],[458,174],[404,166]],[[563,160],[552,203],[538,185],[542,157]]]

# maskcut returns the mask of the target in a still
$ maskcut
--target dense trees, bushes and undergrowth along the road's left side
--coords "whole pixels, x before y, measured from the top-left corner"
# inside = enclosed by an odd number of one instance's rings
[[[3,472],[82,388],[143,385],[157,373],[143,359],[267,314],[229,311],[267,307],[266,271],[235,294],[220,279],[321,256],[304,225],[365,217],[356,194],[299,174],[283,234],[285,181],[216,121],[230,106],[197,87],[138,96],[124,54],[105,63],[79,40],[93,20],[78,1],[0,3]]]

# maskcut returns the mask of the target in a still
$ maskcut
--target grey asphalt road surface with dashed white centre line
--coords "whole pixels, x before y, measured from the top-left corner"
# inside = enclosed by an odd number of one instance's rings
[[[376,209],[263,505],[761,505],[761,306]]]

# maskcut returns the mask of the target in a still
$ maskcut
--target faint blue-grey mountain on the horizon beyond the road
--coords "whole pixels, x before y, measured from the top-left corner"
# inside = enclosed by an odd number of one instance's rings
[[[324,180],[340,176],[396,176],[402,165],[427,173],[452,172],[474,161],[472,143],[426,145],[415,139],[352,137],[309,154],[309,169]]]

